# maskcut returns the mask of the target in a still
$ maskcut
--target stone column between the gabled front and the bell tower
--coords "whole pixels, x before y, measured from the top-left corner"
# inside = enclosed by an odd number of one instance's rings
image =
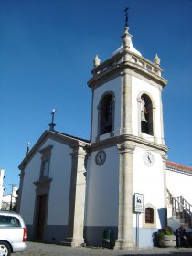
[[[78,247],[84,243],[84,208],[85,208],[85,155],[83,146],[73,148],[69,194],[68,236],[64,245]]]

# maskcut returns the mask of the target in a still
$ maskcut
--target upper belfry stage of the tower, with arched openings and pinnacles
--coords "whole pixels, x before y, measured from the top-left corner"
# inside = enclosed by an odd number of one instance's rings
[[[91,142],[132,134],[164,143],[160,59],[144,59],[133,47],[129,27],[124,27],[122,46],[101,63],[96,56],[92,78]],[[108,135],[107,135],[108,134]]]

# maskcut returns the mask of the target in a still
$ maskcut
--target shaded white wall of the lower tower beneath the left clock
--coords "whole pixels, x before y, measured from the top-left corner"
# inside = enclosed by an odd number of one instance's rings
[[[119,200],[119,155],[117,147],[104,149],[106,161],[95,164],[91,153],[87,173],[86,226],[117,226]]]

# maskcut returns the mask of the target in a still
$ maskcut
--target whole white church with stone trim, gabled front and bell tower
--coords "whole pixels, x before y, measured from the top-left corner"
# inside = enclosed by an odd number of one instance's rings
[[[114,249],[148,247],[181,212],[191,228],[192,168],[167,161],[160,59],[133,47],[128,16],[121,38],[109,59],[93,60],[91,139],[56,131],[52,118],[19,165],[28,240],[101,246],[110,230]]]

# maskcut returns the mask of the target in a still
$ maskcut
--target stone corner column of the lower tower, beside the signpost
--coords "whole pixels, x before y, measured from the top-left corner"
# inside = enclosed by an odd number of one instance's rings
[[[119,149],[119,216],[118,239],[115,249],[134,248],[133,243],[133,151],[128,142],[117,145]]]

